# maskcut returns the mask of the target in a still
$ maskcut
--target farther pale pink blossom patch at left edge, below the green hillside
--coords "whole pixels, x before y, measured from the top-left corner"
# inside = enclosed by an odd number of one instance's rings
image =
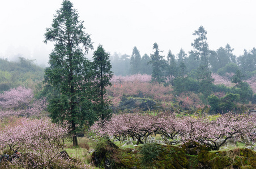
[[[35,100],[33,91],[19,86],[0,94],[0,118],[15,116],[40,116],[46,110],[44,99]]]

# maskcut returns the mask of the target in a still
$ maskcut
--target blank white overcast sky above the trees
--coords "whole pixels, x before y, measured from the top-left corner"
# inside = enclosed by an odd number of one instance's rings
[[[152,54],[153,43],[167,55],[181,48],[192,50],[193,34],[200,25],[207,30],[211,50],[256,47],[255,0],[71,0],[91,34],[95,49],[131,55],[136,46],[140,55]],[[1,0],[0,56],[12,59],[21,54],[37,63],[47,63],[53,45],[43,43],[45,29],[62,0]]]

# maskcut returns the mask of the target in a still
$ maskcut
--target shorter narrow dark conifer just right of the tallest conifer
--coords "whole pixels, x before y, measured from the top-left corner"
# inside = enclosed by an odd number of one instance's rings
[[[95,80],[93,81],[95,83],[93,85],[95,88],[93,103],[95,104],[95,112],[102,120],[109,118],[112,112],[109,109],[109,100],[105,97],[106,86],[112,85],[110,82],[113,76],[113,72],[110,70],[111,68],[109,54],[105,52],[102,45],[99,45],[93,55],[93,72],[95,76]]]

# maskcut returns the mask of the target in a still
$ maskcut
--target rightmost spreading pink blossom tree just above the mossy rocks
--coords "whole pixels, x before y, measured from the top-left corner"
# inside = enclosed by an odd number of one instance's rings
[[[226,113],[216,120],[207,117],[185,117],[184,128],[180,132],[181,140],[194,140],[219,150],[228,139],[248,138],[256,140],[256,121],[254,114]]]

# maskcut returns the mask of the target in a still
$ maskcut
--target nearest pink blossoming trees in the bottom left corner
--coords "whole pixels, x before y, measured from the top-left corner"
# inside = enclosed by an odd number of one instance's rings
[[[15,152],[22,155],[10,164],[23,168],[50,168],[58,163],[62,168],[70,168],[70,159],[63,159],[60,152],[69,133],[67,125],[50,122],[49,118],[19,118],[14,123],[1,128],[0,145],[3,152]]]

